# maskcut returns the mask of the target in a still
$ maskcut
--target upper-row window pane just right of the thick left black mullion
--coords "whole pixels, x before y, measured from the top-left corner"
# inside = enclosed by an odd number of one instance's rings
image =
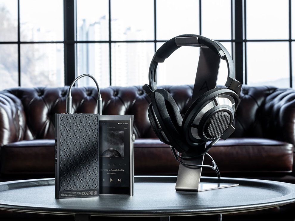
[[[108,0],[77,0],[77,40],[109,40]]]

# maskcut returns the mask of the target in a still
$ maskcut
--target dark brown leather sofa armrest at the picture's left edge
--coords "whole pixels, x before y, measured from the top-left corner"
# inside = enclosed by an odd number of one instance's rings
[[[26,116],[21,100],[15,95],[0,92],[0,147],[23,140]]]

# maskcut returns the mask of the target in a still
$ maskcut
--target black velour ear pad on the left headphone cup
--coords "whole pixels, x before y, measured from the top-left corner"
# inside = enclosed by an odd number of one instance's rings
[[[150,108],[153,108],[155,117],[169,141],[163,142],[173,146],[178,152],[187,151],[189,146],[183,141],[181,131],[182,117],[173,97],[166,90],[157,89],[151,93],[150,98]]]

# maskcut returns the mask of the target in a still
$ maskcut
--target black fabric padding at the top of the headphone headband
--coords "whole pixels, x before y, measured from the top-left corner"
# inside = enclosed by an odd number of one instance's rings
[[[212,51],[215,52],[215,54],[218,54],[218,51],[222,50],[221,47],[219,47],[218,44],[216,44],[213,40],[203,37],[201,35],[192,35],[192,34],[186,34],[186,35],[178,35],[176,37],[198,37],[198,42],[200,44],[206,45],[208,48],[210,48]],[[173,37],[167,42],[165,42],[157,51],[156,55],[160,58],[166,59],[169,57],[176,49],[180,48],[181,46],[177,46],[175,43],[175,38]]]

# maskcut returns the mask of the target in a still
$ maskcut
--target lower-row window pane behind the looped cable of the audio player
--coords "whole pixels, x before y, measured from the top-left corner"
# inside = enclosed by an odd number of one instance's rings
[[[100,87],[110,86],[109,45],[108,43],[80,43],[77,44],[78,76],[91,74]],[[90,78],[81,78],[81,86],[96,86]]]

